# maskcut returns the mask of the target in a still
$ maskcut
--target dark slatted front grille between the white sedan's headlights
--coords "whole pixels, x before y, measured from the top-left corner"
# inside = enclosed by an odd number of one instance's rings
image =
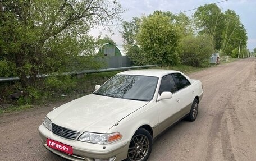
[[[65,137],[66,139],[76,139],[77,135],[79,134],[78,131],[69,130],[67,128],[52,124],[52,132],[61,137]]]

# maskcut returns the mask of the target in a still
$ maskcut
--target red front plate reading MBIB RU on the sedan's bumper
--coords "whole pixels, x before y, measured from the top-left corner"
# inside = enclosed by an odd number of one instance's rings
[[[52,139],[48,139],[48,138],[47,138],[47,146],[49,146],[49,147],[52,148],[52,149],[56,149],[56,150],[62,151],[62,152],[64,152],[64,153],[73,155],[72,146],[63,144],[63,143],[61,143],[61,142],[54,141],[54,140],[52,140]]]

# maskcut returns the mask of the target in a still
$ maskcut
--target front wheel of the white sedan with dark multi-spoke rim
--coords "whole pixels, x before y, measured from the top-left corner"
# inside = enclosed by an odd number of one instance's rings
[[[145,128],[139,128],[130,141],[127,161],[147,160],[152,150],[152,144],[150,133]]]

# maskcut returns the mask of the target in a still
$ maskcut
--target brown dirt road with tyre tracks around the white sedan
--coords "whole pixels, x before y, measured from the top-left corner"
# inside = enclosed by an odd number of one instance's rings
[[[162,134],[149,161],[256,160],[256,59],[189,76],[203,82],[198,118],[181,121]],[[66,161],[43,148],[38,135],[45,114],[55,106],[0,116],[0,160]]]

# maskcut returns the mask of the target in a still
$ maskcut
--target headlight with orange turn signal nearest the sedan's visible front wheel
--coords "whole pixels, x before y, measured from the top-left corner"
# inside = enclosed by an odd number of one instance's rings
[[[79,141],[90,142],[94,144],[109,144],[111,142],[122,139],[122,135],[119,132],[111,134],[98,134],[94,132],[84,132],[80,137]]]

